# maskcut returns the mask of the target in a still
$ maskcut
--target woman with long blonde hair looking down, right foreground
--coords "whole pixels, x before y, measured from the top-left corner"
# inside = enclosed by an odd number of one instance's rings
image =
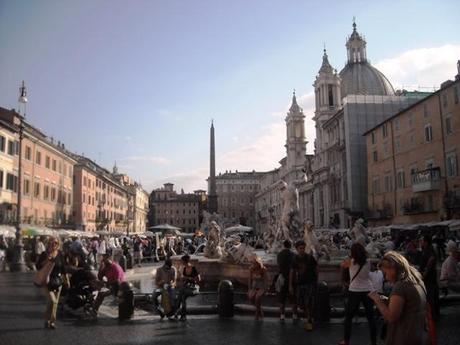
[[[387,321],[386,345],[425,345],[426,295],[420,273],[401,254],[391,251],[383,256],[380,268],[393,283],[389,299],[371,292],[369,297]]]

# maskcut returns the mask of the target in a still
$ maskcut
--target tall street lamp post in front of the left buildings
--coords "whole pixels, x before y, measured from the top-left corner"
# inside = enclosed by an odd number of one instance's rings
[[[19,88],[19,112],[23,108],[24,116],[19,114],[19,164],[18,164],[18,205],[16,207],[16,244],[14,246],[13,261],[10,265],[10,271],[12,272],[25,272],[26,264],[24,261],[24,245],[22,244],[21,236],[21,172],[22,172],[22,139],[24,137],[24,118],[26,116],[26,104],[27,104],[27,91],[24,81],[22,86]]]

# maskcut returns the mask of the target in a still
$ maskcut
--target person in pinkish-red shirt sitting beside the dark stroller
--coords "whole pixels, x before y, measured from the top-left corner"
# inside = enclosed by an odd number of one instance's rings
[[[96,284],[98,294],[94,303],[96,311],[99,310],[99,307],[107,296],[117,296],[120,284],[125,281],[125,273],[119,264],[111,260],[109,254],[104,254],[97,277],[99,279],[98,284]],[[104,282],[104,278],[107,282]]]

